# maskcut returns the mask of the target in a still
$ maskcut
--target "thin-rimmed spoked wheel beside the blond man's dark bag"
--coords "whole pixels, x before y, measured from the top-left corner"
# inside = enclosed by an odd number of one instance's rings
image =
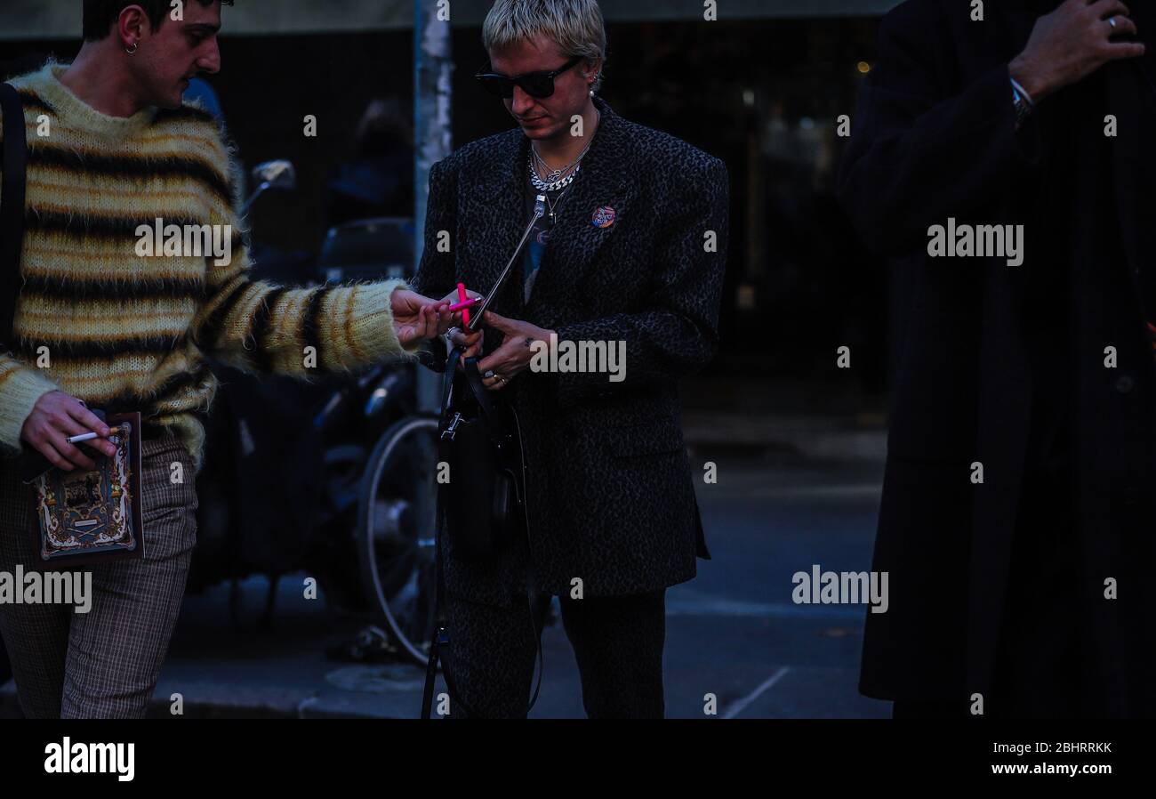
[[[415,663],[435,623],[436,419],[410,416],[383,434],[365,465],[357,560],[373,612]]]

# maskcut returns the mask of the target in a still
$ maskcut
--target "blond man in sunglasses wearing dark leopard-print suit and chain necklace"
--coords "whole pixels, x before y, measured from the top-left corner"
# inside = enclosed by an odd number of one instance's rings
[[[435,164],[415,284],[489,291],[538,194],[550,213],[487,313],[484,341],[455,336],[482,350],[487,387],[519,415],[529,534],[481,563],[445,541],[447,669],[473,715],[526,715],[528,570],[541,598],[560,597],[587,715],[661,717],[665,592],[709,557],[677,380],[718,345],[727,170],[595,95],[606,32],[594,0],[498,0],[483,42],[482,81],[519,125]],[[560,353],[623,342],[625,369],[531,369],[532,346],[551,339]]]

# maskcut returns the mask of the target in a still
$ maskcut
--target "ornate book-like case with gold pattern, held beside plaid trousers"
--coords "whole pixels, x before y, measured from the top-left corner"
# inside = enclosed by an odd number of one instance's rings
[[[105,422],[123,432],[109,441],[113,457],[87,450],[91,472],[52,468],[36,479],[39,565],[68,568],[141,557],[141,421],[139,413],[110,415]]]

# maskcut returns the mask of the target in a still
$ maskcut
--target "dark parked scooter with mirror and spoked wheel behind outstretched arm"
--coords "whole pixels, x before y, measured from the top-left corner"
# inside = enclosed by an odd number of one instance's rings
[[[291,188],[292,165],[261,164],[253,178],[258,188],[245,209],[265,191]],[[312,276],[409,278],[413,242],[410,220],[340,225]],[[269,259],[257,250],[254,260],[268,274]],[[240,623],[240,580],[267,575],[267,623],[277,579],[305,571],[329,601],[365,612],[369,629],[388,638],[381,646],[424,663],[433,626],[437,420],[417,413],[417,367],[381,363],[314,383],[210,367],[221,389],[198,478],[201,532],[190,590],[230,580]]]

